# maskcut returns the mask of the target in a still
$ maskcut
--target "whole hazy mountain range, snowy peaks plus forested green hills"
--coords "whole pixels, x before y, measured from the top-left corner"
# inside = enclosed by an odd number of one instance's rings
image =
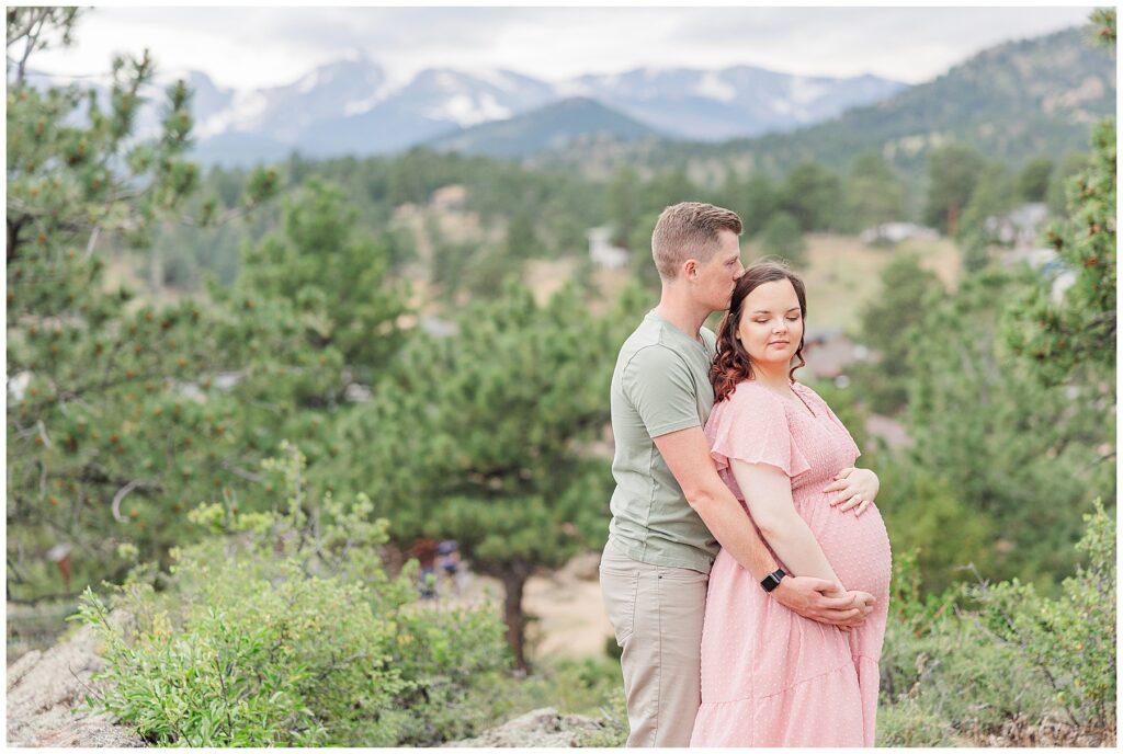
[[[1013,163],[1059,158],[1084,149],[1088,123],[1115,111],[1114,61],[1085,37],[1071,28],[998,45],[914,86],[749,66],[647,67],[560,83],[442,68],[399,85],[358,53],[253,91],[191,72],[193,156],[245,166],[292,151],[363,157],[424,146],[594,173],[629,163],[711,175],[777,172],[803,159],[844,168],[865,149],[916,174],[928,151],[949,141]],[[37,80],[47,83],[57,82]],[[149,88],[139,135],[158,129],[167,83]]]

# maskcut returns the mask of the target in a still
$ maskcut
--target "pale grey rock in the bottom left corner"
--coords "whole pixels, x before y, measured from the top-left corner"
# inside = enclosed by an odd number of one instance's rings
[[[107,715],[79,709],[102,668],[97,635],[83,626],[69,641],[33,651],[8,669],[9,746],[145,746]]]

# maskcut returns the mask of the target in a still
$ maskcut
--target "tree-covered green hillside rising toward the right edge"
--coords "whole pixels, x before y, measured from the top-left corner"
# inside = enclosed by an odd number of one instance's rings
[[[1085,28],[1070,28],[985,49],[932,81],[812,126],[721,144],[574,142],[536,154],[531,163],[721,176],[729,167],[783,173],[807,159],[844,171],[874,149],[916,177],[928,154],[952,141],[1013,165],[1039,155],[1059,160],[1086,150],[1092,123],[1115,113],[1115,75],[1114,55],[1092,46]]]

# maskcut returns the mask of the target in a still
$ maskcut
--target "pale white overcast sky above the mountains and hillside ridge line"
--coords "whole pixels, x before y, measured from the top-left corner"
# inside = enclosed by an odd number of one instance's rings
[[[548,81],[640,66],[756,65],[919,83],[1008,39],[1083,24],[1060,8],[95,8],[67,50],[29,62],[94,75],[149,47],[159,71],[238,89],[295,81],[358,50],[404,83],[427,67],[503,67]]]

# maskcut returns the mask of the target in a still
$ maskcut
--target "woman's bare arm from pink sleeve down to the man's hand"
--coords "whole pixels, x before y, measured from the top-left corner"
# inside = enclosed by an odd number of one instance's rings
[[[795,512],[791,478],[767,463],[730,459],[730,466],[737,485],[745,493],[754,523],[779,559],[795,571],[793,576],[827,579],[840,592],[846,591],[815,535]]]

